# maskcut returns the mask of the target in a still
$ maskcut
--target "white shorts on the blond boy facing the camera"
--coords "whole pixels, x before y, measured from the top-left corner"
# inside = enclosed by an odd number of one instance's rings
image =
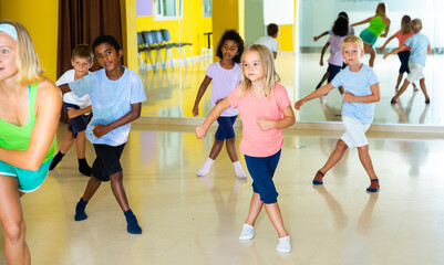
[[[342,121],[345,127],[345,132],[341,136],[341,140],[343,140],[350,149],[369,145],[365,131],[370,128],[371,124],[364,125],[358,119],[347,116],[342,116]]]

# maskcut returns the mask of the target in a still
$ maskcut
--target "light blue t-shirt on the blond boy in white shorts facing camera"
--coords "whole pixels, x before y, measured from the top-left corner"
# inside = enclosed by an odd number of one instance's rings
[[[345,92],[354,96],[368,96],[372,94],[371,85],[380,83],[372,67],[362,64],[358,72],[351,72],[350,67],[342,70],[334,76],[331,84],[334,87],[342,86]],[[364,125],[373,121],[374,103],[347,103],[342,104],[342,116],[355,118]]]

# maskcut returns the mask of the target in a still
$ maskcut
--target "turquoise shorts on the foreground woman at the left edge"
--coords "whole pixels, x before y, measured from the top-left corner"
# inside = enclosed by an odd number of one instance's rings
[[[48,169],[50,168],[52,158],[43,162],[40,168],[35,171],[25,170],[13,167],[0,160],[0,174],[17,178],[19,181],[19,191],[32,192],[43,183],[43,180],[48,176]]]

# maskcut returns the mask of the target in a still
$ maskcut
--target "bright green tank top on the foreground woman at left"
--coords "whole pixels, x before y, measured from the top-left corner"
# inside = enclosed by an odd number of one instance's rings
[[[32,128],[35,124],[34,106],[37,98],[38,83],[29,86],[29,118],[23,126],[10,124],[0,118],[0,147],[8,150],[27,150],[31,138]],[[43,162],[50,160],[54,156],[55,137],[51,144]]]

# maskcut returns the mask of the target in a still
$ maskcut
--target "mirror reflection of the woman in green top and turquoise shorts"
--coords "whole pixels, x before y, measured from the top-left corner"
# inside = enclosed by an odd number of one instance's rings
[[[373,67],[376,53],[373,49],[379,36],[385,38],[390,30],[390,19],[385,15],[385,3],[381,2],[376,7],[375,14],[363,21],[351,24],[351,26],[370,23],[369,28],[363,30],[359,36],[364,42],[364,51],[370,53],[369,65]],[[384,33],[382,33],[384,32]]]

